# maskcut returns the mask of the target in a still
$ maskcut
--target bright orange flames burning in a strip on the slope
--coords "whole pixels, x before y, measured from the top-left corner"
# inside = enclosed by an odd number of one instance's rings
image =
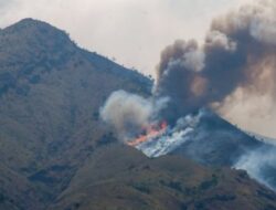
[[[167,122],[162,122],[160,126],[151,125],[145,129],[146,134],[140,135],[138,138],[134,139],[132,141],[128,141],[127,145],[135,147],[141,143],[149,140],[150,138],[157,137],[164,133],[167,129],[168,124]]]

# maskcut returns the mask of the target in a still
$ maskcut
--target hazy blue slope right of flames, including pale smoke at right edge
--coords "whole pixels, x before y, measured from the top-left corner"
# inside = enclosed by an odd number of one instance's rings
[[[256,136],[256,135],[255,135]],[[209,109],[179,119],[176,128],[137,146],[149,157],[173,154],[212,167],[234,167],[276,190],[276,147]]]

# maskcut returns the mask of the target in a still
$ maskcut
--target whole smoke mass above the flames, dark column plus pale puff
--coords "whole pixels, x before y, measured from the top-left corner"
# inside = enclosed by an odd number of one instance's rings
[[[262,97],[274,103],[275,13],[276,1],[263,0],[214,19],[202,44],[176,41],[161,53],[152,97],[116,92],[102,118],[126,139],[155,120],[176,125],[204,107],[225,116],[234,102]]]

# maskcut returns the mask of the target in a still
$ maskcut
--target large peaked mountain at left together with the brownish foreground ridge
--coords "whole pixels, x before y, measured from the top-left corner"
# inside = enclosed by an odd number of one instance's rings
[[[1,30],[0,209],[276,209],[274,191],[219,156],[209,167],[121,145],[99,108],[114,91],[149,96],[151,85],[45,22]]]

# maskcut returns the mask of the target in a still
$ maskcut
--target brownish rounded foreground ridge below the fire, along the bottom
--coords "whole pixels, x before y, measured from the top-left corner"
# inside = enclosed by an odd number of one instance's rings
[[[211,169],[188,159],[149,159],[128,147],[98,149],[50,208],[60,209],[275,209],[276,196],[246,172]]]

